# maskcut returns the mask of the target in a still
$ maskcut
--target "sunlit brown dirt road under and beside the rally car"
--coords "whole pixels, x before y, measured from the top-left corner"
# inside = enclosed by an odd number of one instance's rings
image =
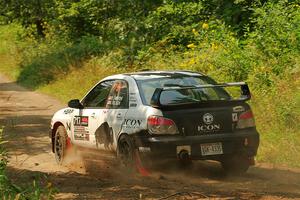
[[[268,164],[227,177],[218,163],[194,162],[182,169],[167,162],[142,177],[120,171],[113,155],[83,152],[57,166],[48,129],[51,115],[64,105],[1,75],[0,97],[10,177],[18,183],[47,178],[59,189],[58,199],[300,199],[300,170]]]

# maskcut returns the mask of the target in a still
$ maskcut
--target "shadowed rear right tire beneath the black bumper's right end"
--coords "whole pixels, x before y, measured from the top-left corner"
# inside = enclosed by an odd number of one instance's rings
[[[229,175],[243,175],[250,167],[248,157],[241,155],[233,155],[221,161],[221,165]]]

